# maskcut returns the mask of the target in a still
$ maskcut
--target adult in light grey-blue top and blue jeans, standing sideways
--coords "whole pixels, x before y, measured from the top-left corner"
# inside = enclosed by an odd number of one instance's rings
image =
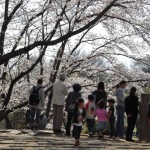
[[[125,88],[127,82],[121,81],[120,87],[116,90],[117,97],[117,122],[116,122],[116,130],[117,134],[120,138],[124,138],[124,112],[125,112]]]

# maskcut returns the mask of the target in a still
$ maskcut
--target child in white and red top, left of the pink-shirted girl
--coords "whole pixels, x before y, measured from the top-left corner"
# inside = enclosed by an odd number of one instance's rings
[[[86,122],[89,132],[89,138],[93,137],[94,127],[95,127],[95,101],[94,96],[91,94],[88,96],[88,102],[85,105],[86,110]]]

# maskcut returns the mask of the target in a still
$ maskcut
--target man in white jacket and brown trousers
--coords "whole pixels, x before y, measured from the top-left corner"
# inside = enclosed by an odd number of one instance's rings
[[[54,133],[62,133],[62,121],[63,121],[63,108],[65,105],[65,96],[68,94],[67,87],[63,83],[65,81],[65,74],[60,74],[58,82],[53,86],[53,131]]]

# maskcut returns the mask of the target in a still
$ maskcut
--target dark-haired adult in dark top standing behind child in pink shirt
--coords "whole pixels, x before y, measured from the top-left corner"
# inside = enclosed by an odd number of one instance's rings
[[[107,93],[105,91],[104,82],[99,82],[97,85],[97,90],[92,93],[95,97],[95,104],[98,105],[98,102],[103,100],[104,106],[107,106]]]

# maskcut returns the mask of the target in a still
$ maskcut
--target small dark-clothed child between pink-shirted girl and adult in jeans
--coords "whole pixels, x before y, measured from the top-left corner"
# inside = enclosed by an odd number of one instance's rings
[[[115,129],[114,103],[115,101],[113,99],[108,100],[108,104],[109,104],[108,121],[110,125],[110,138],[117,137],[117,131]]]

